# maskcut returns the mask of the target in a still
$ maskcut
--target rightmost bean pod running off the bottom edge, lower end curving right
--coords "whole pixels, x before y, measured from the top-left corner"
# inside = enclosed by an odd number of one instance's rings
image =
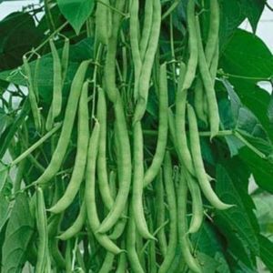
[[[202,273],[197,260],[191,254],[187,239],[187,182],[183,173],[181,173],[177,188],[177,228],[181,253],[187,267],[195,273]]]

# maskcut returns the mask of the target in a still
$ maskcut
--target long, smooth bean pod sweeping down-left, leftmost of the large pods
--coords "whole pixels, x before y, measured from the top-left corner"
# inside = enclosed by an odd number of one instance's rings
[[[53,177],[55,177],[56,172],[59,170],[63,163],[64,157],[66,155],[66,149],[70,141],[70,135],[74,126],[77,103],[82,91],[82,86],[89,63],[90,61],[84,61],[76,71],[76,75],[74,76],[68,97],[61,136],[58,140],[56,149],[49,165],[45,168],[45,172],[42,174],[42,176],[35,180],[35,184],[48,183]]]

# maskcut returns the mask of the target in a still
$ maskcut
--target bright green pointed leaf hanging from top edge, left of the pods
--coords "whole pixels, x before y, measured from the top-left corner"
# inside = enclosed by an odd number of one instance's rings
[[[93,11],[94,0],[57,0],[57,5],[67,21],[75,29],[76,35],[78,35],[81,27]]]

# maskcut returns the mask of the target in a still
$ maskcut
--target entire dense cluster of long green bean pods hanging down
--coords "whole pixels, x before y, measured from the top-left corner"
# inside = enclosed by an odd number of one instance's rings
[[[49,253],[60,270],[66,272],[72,272],[75,265],[86,272],[92,269],[100,273],[184,272],[179,268],[181,263],[177,263],[177,257],[181,258],[185,270],[202,272],[190,237],[204,221],[203,198],[215,209],[232,206],[223,203],[211,186],[213,178],[204,166],[197,126],[200,120],[207,124],[210,140],[217,136],[219,115],[214,83],[219,7],[217,0],[209,3],[210,25],[204,46],[196,1],[187,1],[188,54],[176,69],[176,99],[175,106],[171,107],[167,70],[172,64],[157,62],[161,1],[145,1],[141,22],[139,5],[143,3],[139,0],[96,3],[96,62],[86,60],[78,67],[56,149],[43,174],[34,181],[36,192],[32,207],[35,207],[39,237],[35,272],[50,272]],[[55,119],[62,111],[68,42],[60,58],[54,41],[50,41],[55,87],[46,130],[55,126]],[[35,110],[35,85],[31,84],[29,67],[26,58],[24,60],[38,129],[41,124]],[[90,82],[86,80],[86,73],[93,65],[95,77]],[[127,69],[132,71],[130,76]],[[157,145],[149,162],[145,143],[146,137],[151,136],[144,134],[143,126],[151,88],[157,93],[158,126]],[[189,89],[194,90],[192,105],[187,102]],[[70,181],[64,192],[55,186],[56,197],[48,207],[43,191],[65,161],[75,121],[76,158]],[[63,215],[75,203],[79,207],[76,220],[62,230]],[[80,242],[84,250],[78,248]],[[79,250],[71,258],[73,244]],[[66,248],[66,259],[60,246]],[[89,268],[84,262],[86,258],[81,257],[83,251],[88,252]],[[176,263],[178,268],[174,268]],[[169,271],[171,268],[173,271]]]

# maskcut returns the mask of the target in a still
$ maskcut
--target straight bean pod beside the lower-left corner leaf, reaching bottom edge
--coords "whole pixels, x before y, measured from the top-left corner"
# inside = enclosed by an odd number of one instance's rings
[[[45,199],[41,187],[36,188],[36,227],[39,236],[39,246],[37,252],[37,261],[35,265],[35,272],[44,273],[46,267],[46,259],[48,255],[48,236],[47,223],[45,213]]]

